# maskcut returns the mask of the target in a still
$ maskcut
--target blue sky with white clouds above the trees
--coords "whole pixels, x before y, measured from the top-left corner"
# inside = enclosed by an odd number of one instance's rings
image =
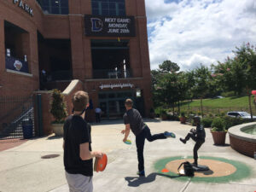
[[[210,66],[256,44],[256,0],[145,0],[151,69]]]

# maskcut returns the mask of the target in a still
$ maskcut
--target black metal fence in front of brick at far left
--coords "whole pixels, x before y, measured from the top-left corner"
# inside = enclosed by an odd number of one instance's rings
[[[22,125],[26,121],[34,131],[34,112],[32,96],[0,96],[0,139],[22,138]]]

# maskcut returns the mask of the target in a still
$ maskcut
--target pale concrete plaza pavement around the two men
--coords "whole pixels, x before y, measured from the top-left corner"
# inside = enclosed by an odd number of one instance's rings
[[[145,119],[151,133],[173,131],[177,138],[148,143],[144,148],[146,177],[137,177],[137,151],[135,137],[130,135],[131,145],[122,142],[120,131],[125,128],[122,120],[102,121],[92,125],[92,148],[108,154],[108,166],[104,172],[94,172],[94,191],[256,191],[256,161],[239,154],[227,145],[213,145],[212,135],[207,131],[206,143],[199,150],[200,156],[212,156],[230,160],[238,160],[251,167],[250,177],[234,182],[195,183],[180,181],[171,177],[162,177],[154,170],[154,162],[172,156],[193,155],[194,142],[186,145],[178,138],[184,137],[191,129],[189,125],[181,125],[177,121],[161,121]],[[59,154],[52,159],[42,159],[47,154]],[[18,147],[0,152],[0,191],[1,192],[65,192],[68,191],[64,174],[63,150],[61,137],[34,138]]]

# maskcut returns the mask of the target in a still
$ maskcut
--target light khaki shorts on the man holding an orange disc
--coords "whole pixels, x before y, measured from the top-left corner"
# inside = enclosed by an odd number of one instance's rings
[[[92,192],[92,177],[86,177],[81,174],[70,174],[66,172],[69,192]]]

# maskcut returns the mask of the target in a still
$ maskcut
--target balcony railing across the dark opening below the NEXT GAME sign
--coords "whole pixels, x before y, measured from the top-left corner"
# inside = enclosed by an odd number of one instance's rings
[[[94,69],[93,79],[126,79],[132,78],[131,70]]]

